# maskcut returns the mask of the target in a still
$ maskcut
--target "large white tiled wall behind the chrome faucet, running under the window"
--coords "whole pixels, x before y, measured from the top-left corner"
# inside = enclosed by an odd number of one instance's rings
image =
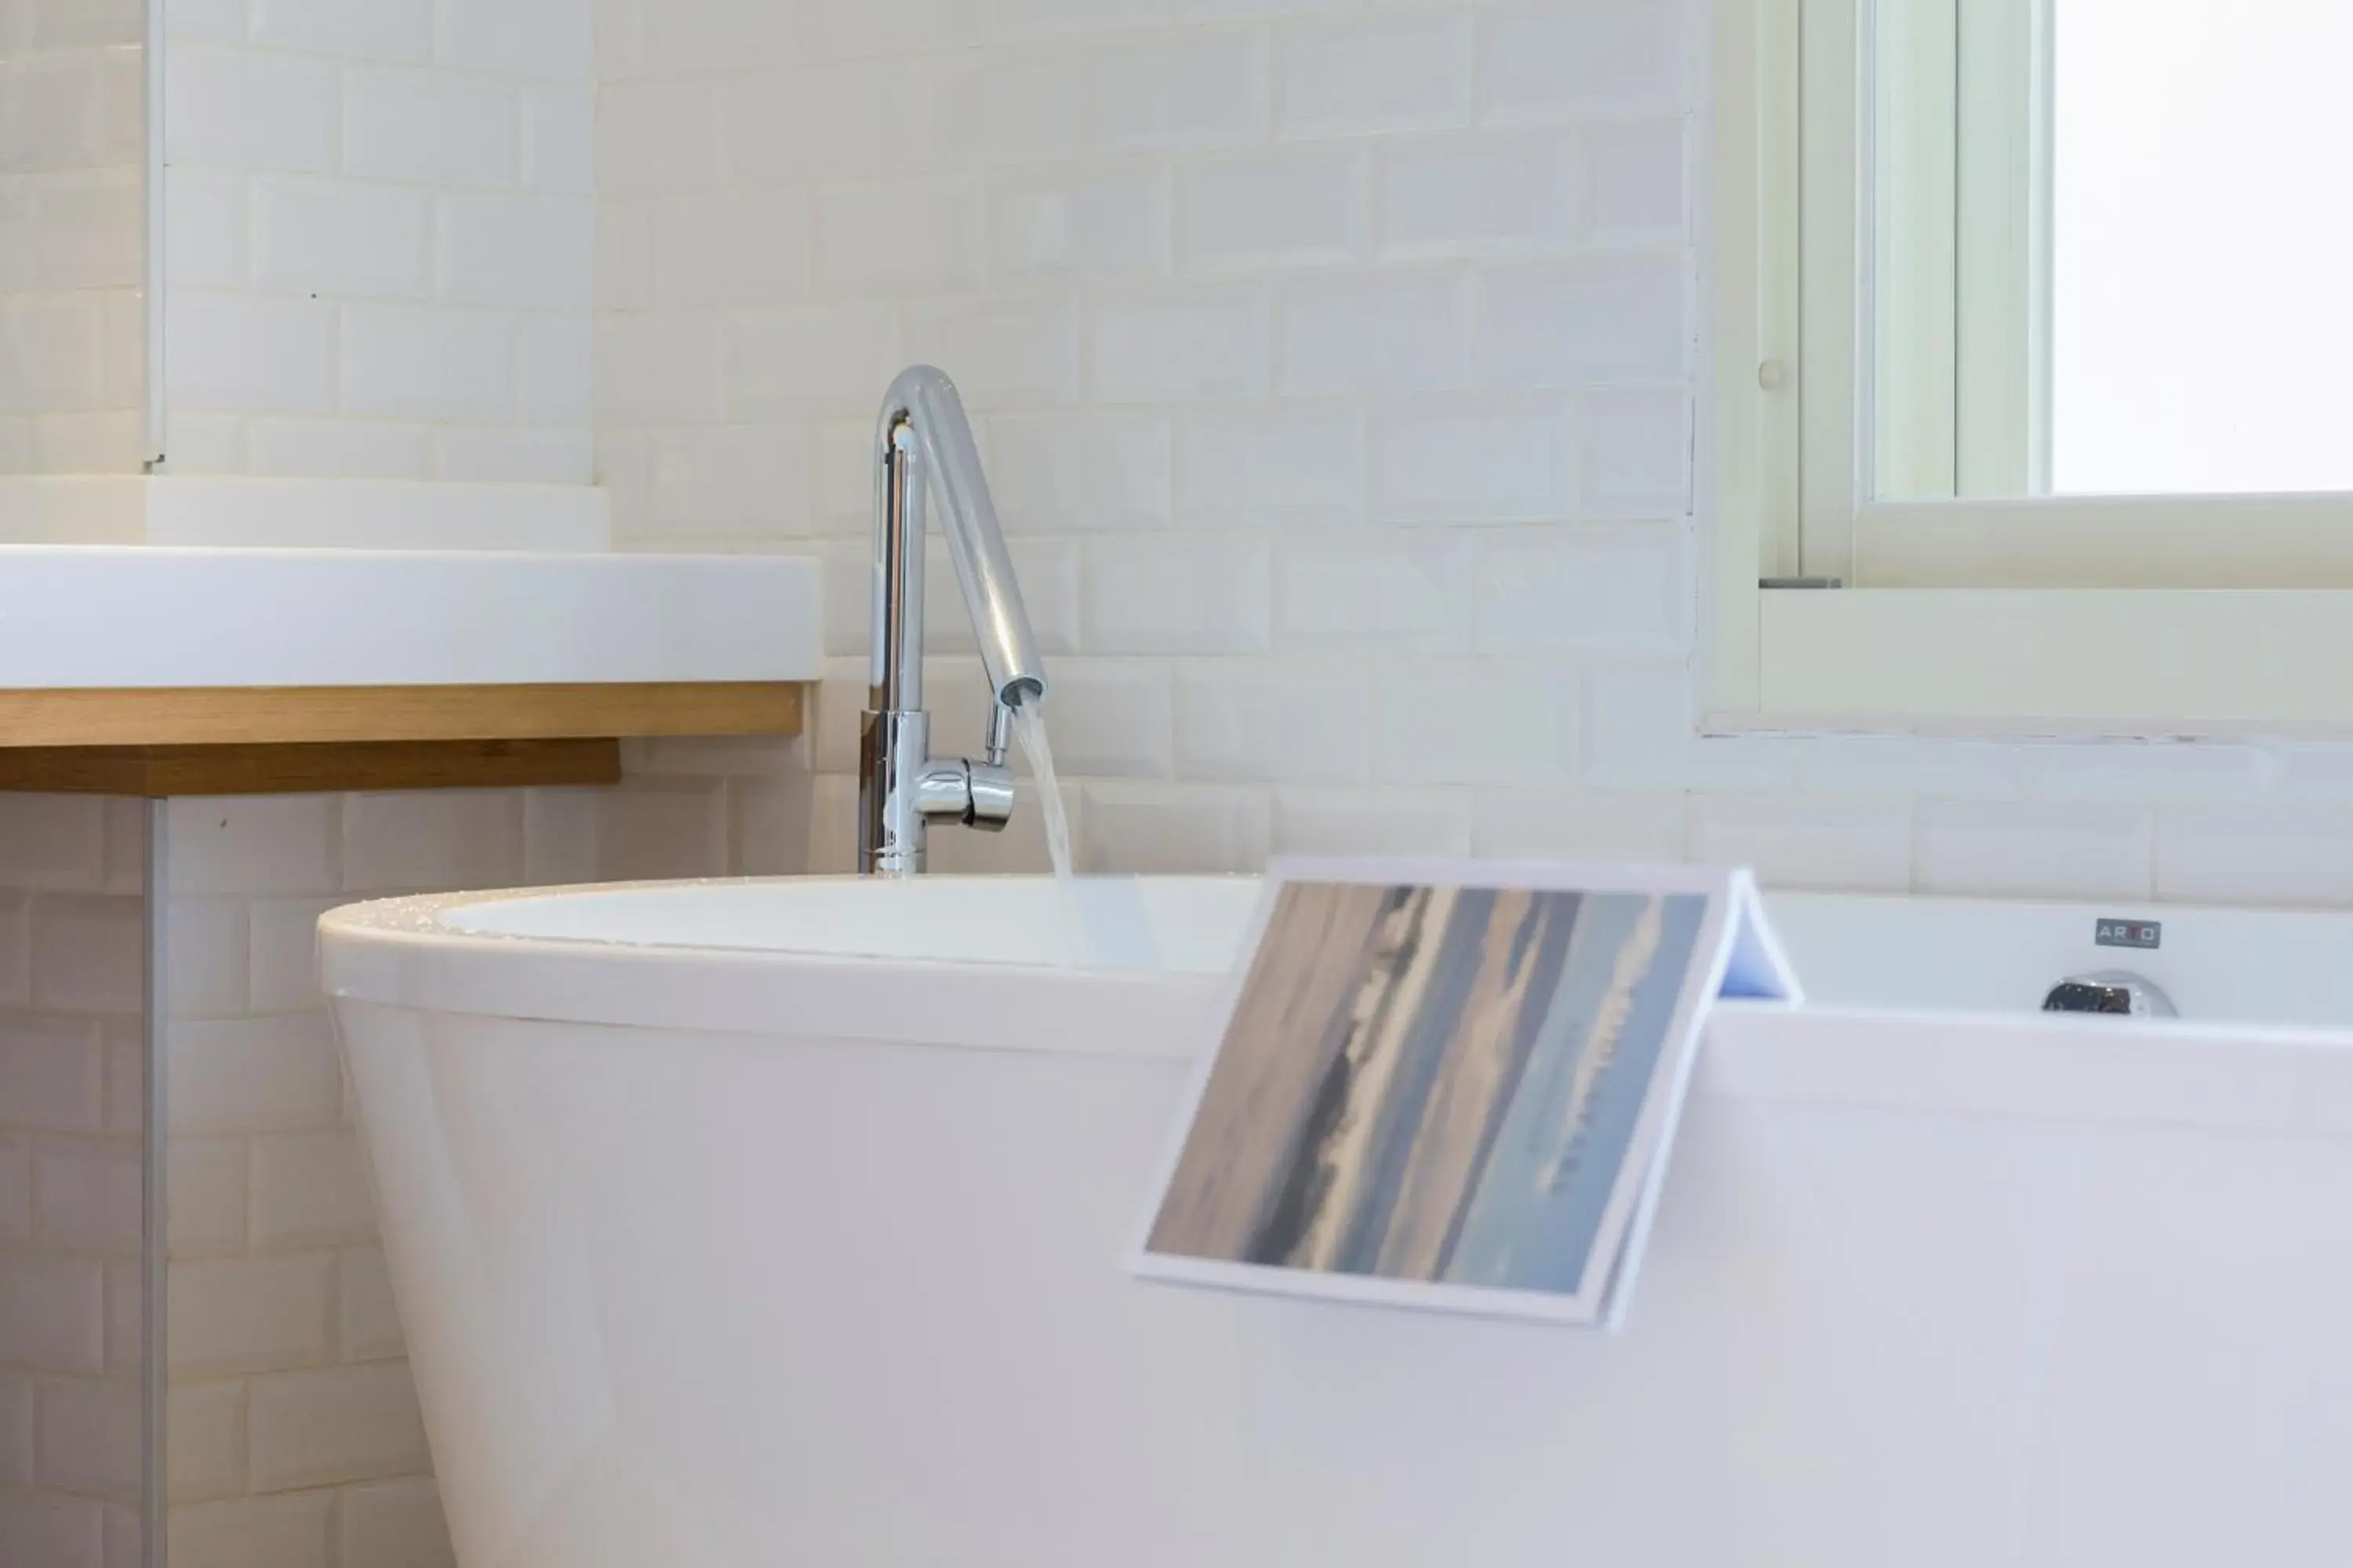
[[[635,548],[826,562],[819,776],[758,804],[807,804],[812,867],[849,856],[873,404],[934,360],[1092,865],[2353,903],[2344,748],[1699,736],[1697,0],[689,12],[600,7],[598,454]],[[944,590],[927,646],[969,726]]]

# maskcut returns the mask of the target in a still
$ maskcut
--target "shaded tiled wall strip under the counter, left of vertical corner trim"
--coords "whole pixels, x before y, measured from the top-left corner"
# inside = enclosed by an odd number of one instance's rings
[[[5,16],[5,12],[0,12]],[[0,1563],[136,1563],[146,820],[0,795]]]

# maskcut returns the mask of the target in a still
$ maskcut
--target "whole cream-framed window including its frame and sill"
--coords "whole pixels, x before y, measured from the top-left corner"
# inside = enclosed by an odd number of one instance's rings
[[[2353,729],[2353,5],[1718,0],[1727,726]]]

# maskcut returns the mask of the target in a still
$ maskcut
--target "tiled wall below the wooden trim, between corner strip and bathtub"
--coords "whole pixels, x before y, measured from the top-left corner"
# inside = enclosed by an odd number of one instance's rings
[[[438,790],[174,799],[162,863],[169,1067],[169,1530],[172,1568],[447,1568],[452,1563],[365,1157],[351,1126],[315,924],[341,903],[409,891],[800,870],[800,743],[638,743],[616,790]],[[791,788],[791,780],[802,788]],[[120,964],[99,802],[0,797],[0,886],[21,849],[28,891],[0,893],[0,1267],[42,1215],[92,1234],[120,1192],[73,1171],[45,1199],[45,1152],[108,1114],[104,1060],[78,1018],[16,1013],[47,910],[78,957],[56,978],[113,999]],[[134,966],[136,973],[136,966]],[[12,990],[9,990],[12,987]],[[136,1013],[136,1001],[132,1004]],[[38,1025],[38,1027],[31,1027]],[[9,1119],[26,1121],[31,1143]],[[136,1143],[132,1145],[136,1159]],[[136,1258],[136,1213],[132,1258]],[[56,1286],[64,1288],[64,1286]],[[87,1291],[101,1281],[89,1276]],[[7,1300],[0,1288],[0,1302]],[[89,1314],[99,1305],[80,1302]],[[49,1361],[96,1363],[96,1319],[45,1314]],[[14,1363],[0,1326],[0,1519],[9,1495]],[[33,1368],[47,1387],[54,1371]],[[96,1373],[89,1373],[96,1375]],[[26,1382],[31,1389],[33,1382]],[[7,1537],[0,1535],[0,1542]],[[21,1559],[0,1552],[0,1563]],[[31,1559],[42,1561],[45,1559]],[[59,1559],[80,1568],[80,1559]]]

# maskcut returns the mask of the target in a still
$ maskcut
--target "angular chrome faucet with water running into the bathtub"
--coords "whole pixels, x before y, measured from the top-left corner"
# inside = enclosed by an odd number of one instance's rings
[[[948,559],[988,670],[981,762],[932,757],[922,708],[922,541],[934,496]],[[955,383],[929,364],[901,371],[875,435],[873,670],[859,745],[859,875],[913,877],[932,823],[1000,832],[1014,813],[1005,766],[1014,715],[1045,696],[1021,585],[988,498],[981,449]]]

